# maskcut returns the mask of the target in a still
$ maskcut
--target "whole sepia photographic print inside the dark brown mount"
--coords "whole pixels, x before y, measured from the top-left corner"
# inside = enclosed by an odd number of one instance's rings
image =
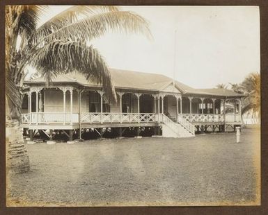
[[[7,207],[260,205],[258,6],[5,10]]]

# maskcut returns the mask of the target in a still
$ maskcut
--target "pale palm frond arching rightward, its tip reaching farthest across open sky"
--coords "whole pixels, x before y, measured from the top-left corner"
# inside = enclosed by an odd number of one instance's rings
[[[79,20],[78,22],[63,26],[63,28],[50,33],[45,41],[54,40],[94,40],[108,31],[125,33],[142,33],[152,37],[148,22],[140,15],[129,11],[104,12]],[[41,44],[42,45],[42,44]]]

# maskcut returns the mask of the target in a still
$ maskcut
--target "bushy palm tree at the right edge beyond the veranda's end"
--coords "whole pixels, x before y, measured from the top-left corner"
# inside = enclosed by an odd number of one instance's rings
[[[245,96],[242,98],[242,116],[251,112],[255,122],[260,123],[260,73],[249,74],[239,85],[232,84],[232,90]]]

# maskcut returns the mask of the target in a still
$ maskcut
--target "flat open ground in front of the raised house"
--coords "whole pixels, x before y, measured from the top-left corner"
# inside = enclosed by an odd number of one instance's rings
[[[260,130],[193,138],[27,145],[31,171],[7,180],[10,206],[256,205]]]

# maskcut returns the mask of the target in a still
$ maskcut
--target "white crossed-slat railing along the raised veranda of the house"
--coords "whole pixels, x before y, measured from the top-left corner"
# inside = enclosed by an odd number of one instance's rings
[[[81,123],[150,123],[157,122],[155,113],[100,113],[86,112],[81,114]],[[159,118],[160,119],[160,118]],[[239,114],[226,114],[226,122],[239,122]],[[171,120],[172,121],[172,120]],[[79,114],[70,112],[32,112],[22,114],[22,123],[79,123]],[[184,128],[193,130],[190,122],[224,122],[224,114],[179,114],[178,123]]]

